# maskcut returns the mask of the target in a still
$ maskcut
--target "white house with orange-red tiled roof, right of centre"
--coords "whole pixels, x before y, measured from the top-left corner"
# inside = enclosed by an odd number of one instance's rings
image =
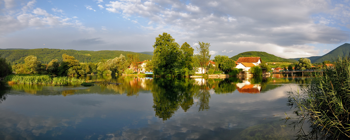
[[[248,71],[251,67],[258,66],[261,63],[260,57],[239,57],[236,61],[236,68]]]

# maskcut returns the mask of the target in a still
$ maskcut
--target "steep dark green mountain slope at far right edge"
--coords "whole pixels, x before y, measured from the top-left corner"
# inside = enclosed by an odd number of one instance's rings
[[[349,56],[350,53],[350,44],[345,43],[343,45],[340,45],[339,47],[335,48],[334,50],[330,51],[329,53],[321,56],[320,58],[311,61],[312,63],[322,63],[323,61],[332,61],[336,60],[339,56]]]

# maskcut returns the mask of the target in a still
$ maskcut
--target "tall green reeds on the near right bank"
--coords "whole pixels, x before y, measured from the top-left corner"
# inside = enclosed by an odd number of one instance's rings
[[[300,139],[350,139],[350,57],[334,62],[323,76],[315,76],[300,90],[289,93],[296,125],[308,123],[309,132],[299,130]]]

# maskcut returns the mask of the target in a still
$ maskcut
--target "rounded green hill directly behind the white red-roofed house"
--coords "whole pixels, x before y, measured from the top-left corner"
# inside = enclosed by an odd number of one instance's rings
[[[266,62],[291,62],[291,63],[297,62],[293,59],[284,59],[281,57],[277,57],[273,54],[268,54],[266,52],[257,52],[257,51],[240,53],[231,57],[231,59],[237,61],[239,57],[260,57],[262,61],[266,61]]]

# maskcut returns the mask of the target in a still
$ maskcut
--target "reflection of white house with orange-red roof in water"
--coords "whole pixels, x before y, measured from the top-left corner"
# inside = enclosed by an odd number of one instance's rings
[[[237,83],[237,90],[243,94],[256,94],[261,92],[260,84],[251,84],[248,80],[243,80],[243,83]]]

